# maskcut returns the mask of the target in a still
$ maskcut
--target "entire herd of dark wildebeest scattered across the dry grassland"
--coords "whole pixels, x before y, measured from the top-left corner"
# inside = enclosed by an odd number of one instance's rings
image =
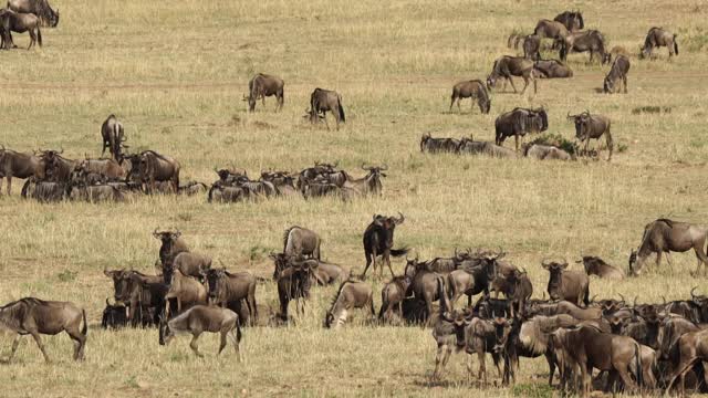
[[[37,14],[37,17],[28,17]],[[3,46],[12,45],[10,32],[30,31],[41,45],[40,24],[55,27],[59,12],[46,0],[10,0],[7,10],[0,10],[0,32]],[[30,27],[31,25],[31,27]],[[524,80],[537,88],[537,78],[572,77],[573,72],[563,63],[573,52],[590,52],[601,63],[612,63],[603,90],[614,93],[622,84],[627,92],[629,60],[626,50],[607,51],[603,34],[583,30],[580,11],[566,11],[554,20],[541,20],[532,34],[512,34],[509,46],[521,44],[523,56],[502,56],[494,61],[487,82],[465,81],[452,88],[450,109],[462,98],[476,101],[482,113],[491,108],[490,92],[500,80],[516,86],[512,76]],[[550,39],[559,60],[542,60],[542,40]],[[652,54],[658,46],[667,46],[669,57],[678,54],[676,35],[662,28],[652,28],[641,51],[641,57]],[[614,55],[614,61],[613,61]],[[284,104],[283,80],[257,74],[249,82],[249,111],[256,111],[258,100],[275,96],[277,109]],[[324,121],[326,113],[334,115],[336,127],[346,121],[342,97],[333,91],[316,88],[310,98],[305,118],[311,123]],[[433,138],[423,136],[420,150],[428,153],[485,154],[494,157],[516,157],[519,139],[528,133],[548,129],[548,111],[517,107],[496,121],[496,142],[476,142],[472,137]],[[575,159],[597,154],[589,149],[590,139],[605,137],[612,158],[613,139],[607,117],[589,111],[568,115],[575,125],[573,150],[561,145],[537,142],[522,144],[524,156],[538,159]],[[327,124],[329,128],[329,124]],[[386,165],[366,166],[363,177],[352,177],[337,165],[315,163],[300,172],[262,170],[258,180],[236,167],[216,169],[218,180],[210,187],[201,182],[181,184],[180,165],[171,157],[155,150],[127,153],[123,124],[111,115],[101,127],[102,156],[108,158],[69,159],[63,150],[37,150],[24,154],[0,149],[0,178],[7,178],[7,192],[11,192],[12,178],[27,179],[22,197],[43,202],[71,200],[123,200],[132,192],[140,193],[207,193],[209,201],[232,202],[274,196],[313,198],[334,196],[352,199],[364,195],[381,195],[382,177]],[[503,142],[514,137],[516,150],[504,148]],[[1,186],[0,180],[0,186]],[[366,265],[360,275],[352,270],[322,260],[320,235],[301,227],[289,228],[283,235],[281,253],[271,253],[277,284],[279,308],[257,304],[257,287],[268,283],[250,272],[229,272],[214,266],[212,259],[192,252],[178,230],[155,230],[160,248],[155,274],[135,270],[104,270],[114,287],[114,303],[106,300],[102,326],[157,326],[159,343],[167,344],[176,334],[191,334],[191,349],[201,356],[197,339],[204,332],[219,333],[219,353],[230,338],[240,358],[241,328],[246,326],[293,325],[298,315],[306,311],[305,303],[316,286],[339,283],[330,308],[323,314],[325,327],[339,328],[346,324],[355,308],[371,312],[371,324],[429,326],[437,344],[434,379],[440,379],[452,352],[467,354],[469,377],[472,355],[479,360],[480,381],[486,384],[486,356],[491,355],[503,384],[514,383],[521,357],[544,356],[549,364],[549,384],[554,383],[558,369],[559,388],[565,392],[589,392],[593,386],[605,390],[641,391],[643,394],[686,387],[708,391],[704,360],[708,360],[708,296],[690,290],[690,298],[662,303],[632,302],[624,296],[597,298],[591,295],[591,277],[622,280],[638,276],[644,263],[656,255],[669,260],[670,252],[694,250],[698,266],[693,273],[701,275],[701,265],[708,266],[708,229],[669,219],[648,223],[639,247],[632,251],[627,272],[597,256],[582,255],[580,270],[571,270],[565,260],[543,260],[541,266],[549,272],[548,298],[531,298],[533,285],[523,268],[504,260],[499,249],[455,250],[449,258],[420,261],[408,259],[410,249],[394,249],[394,231],[404,224],[405,217],[374,214],[363,233]],[[396,275],[391,256],[406,256],[405,271]],[[670,261],[669,261],[670,264]],[[381,291],[381,306],[376,314],[374,292],[366,283],[366,273],[383,279],[387,266],[391,279]],[[706,271],[704,270],[702,273]],[[594,277],[593,277],[594,280]],[[467,305],[458,301],[467,296]],[[477,301],[473,297],[477,296]],[[295,317],[289,312],[295,302]],[[437,302],[437,304],[435,304]],[[51,302],[25,297],[0,307],[0,322],[17,332],[12,344],[12,359],[19,338],[30,334],[44,358],[49,356],[40,334],[54,335],[65,331],[74,341],[74,359],[83,359],[87,336],[85,311],[69,302]],[[600,370],[593,377],[593,370]]]

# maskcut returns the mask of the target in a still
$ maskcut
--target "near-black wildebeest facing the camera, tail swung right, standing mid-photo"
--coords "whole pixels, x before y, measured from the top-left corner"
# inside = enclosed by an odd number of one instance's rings
[[[394,270],[391,268],[391,256],[402,256],[408,253],[408,248],[393,249],[394,247],[394,231],[396,226],[400,226],[406,219],[399,212],[398,218],[386,217],[381,214],[374,214],[373,221],[366,227],[364,231],[364,255],[366,256],[366,266],[362,272],[362,279],[366,276],[368,266],[374,263],[374,273],[376,273],[376,265],[378,265],[378,275],[383,276],[384,265],[377,263],[376,258],[381,256],[382,261],[388,265],[392,276]]]

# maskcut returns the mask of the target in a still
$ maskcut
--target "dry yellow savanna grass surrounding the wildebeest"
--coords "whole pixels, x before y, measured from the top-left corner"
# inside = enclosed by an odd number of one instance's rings
[[[157,344],[155,329],[103,332],[97,327],[112,284],[104,268],[153,271],[156,227],[177,227],[196,251],[231,270],[268,276],[268,253],[281,248],[291,224],[324,239],[324,258],[361,271],[361,234],[373,213],[402,211],[397,245],[421,259],[455,247],[503,247],[524,266],[534,296],[545,290],[546,256],[601,255],[626,268],[644,224],[659,217],[706,222],[708,146],[705,137],[708,6],[677,1],[191,1],[76,0],[53,2],[58,29],[44,29],[44,48],[0,55],[0,143],[21,150],[64,148],[69,157],[100,155],[100,125],[115,113],[132,150],[153,148],[183,165],[183,180],[212,181],[214,166],[300,170],[314,160],[339,161],[354,175],[363,163],[389,166],[381,198],[269,200],[208,205],[205,197],[140,197],[123,205],[38,205],[0,199],[0,302],[27,295],[67,300],[88,312],[86,360],[70,360],[65,335],[44,338],[54,363],[45,365],[33,342],[23,342],[2,365],[2,396],[488,396],[549,394],[545,360],[522,360],[513,389],[477,389],[454,356],[445,381],[434,384],[435,344],[429,329],[374,327],[365,317],[339,332],[322,328],[335,287],[317,289],[295,327],[249,328],[244,357],[214,354],[217,338],[201,338],[197,359],[180,338]],[[680,55],[667,62],[632,56],[629,94],[597,93],[607,66],[571,55],[572,80],[541,81],[539,93],[494,93],[489,115],[448,113],[450,88],[483,78],[494,57],[513,53],[513,30],[531,32],[541,18],[580,8],[587,28],[610,46],[633,54],[653,25],[678,33]],[[27,45],[27,34],[15,42]],[[551,56],[551,54],[545,54]],[[273,100],[254,114],[241,96],[256,72],[285,80],[285,107]],[[517,80],[521,84],[520,80]],[[347,123],[327,132],[303,123],[314,87],[342,93]],[[544,105],[550,132],[568,138],[566,112],[608,115],[622,151],[612,163],[540,163],[423,155],[433,136],[493,139],[493,121],[514,106]],[[634,114],[647,105],[667,114]],[[512,145],[508,142],[507,146]],[[603,157],[606,153],[603,153]],[[2,188],[4,192],[4,187]],[[695,279],[693,254],[674,255],[641,279],[593,279],[591,294],[686,297]],[[577,268],[573,264],[573,268]],[[403,261],[395,261],[397,272]],[[371,281],[371,280],[369,280]],[[376,292],[382,282],[372,281]],[[275,307],[272,283],[259,303]],[[378,293],[376,305],[381,304]],[[2,339],[7,356],[10,335]],[[475,360],[475,368],[478,363]],[[488,366],[491,360],[488,359]],[[490,371],[496,379],[496,371]]]

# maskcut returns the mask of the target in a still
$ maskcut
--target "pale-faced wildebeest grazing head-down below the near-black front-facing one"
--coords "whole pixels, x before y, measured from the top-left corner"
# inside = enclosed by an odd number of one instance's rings
[[[376,316],[374,311],[374,292],[372,286],[364,282],[347,280],[340,285],[330,310],[324,316],[324,326],[335,329],[344,325],[350,311],[353,308],[369,307],[372,317]]]

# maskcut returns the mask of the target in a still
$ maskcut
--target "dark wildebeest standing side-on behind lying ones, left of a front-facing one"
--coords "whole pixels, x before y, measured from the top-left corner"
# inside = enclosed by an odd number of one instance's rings
[[[503,113],[494,121],[496,144],[502,145],[507,137],[514,137],[519,151],[519,137],[530,133],[541,133],[549,128],[549,116],[543,107],[537,109],[514,108]]]

